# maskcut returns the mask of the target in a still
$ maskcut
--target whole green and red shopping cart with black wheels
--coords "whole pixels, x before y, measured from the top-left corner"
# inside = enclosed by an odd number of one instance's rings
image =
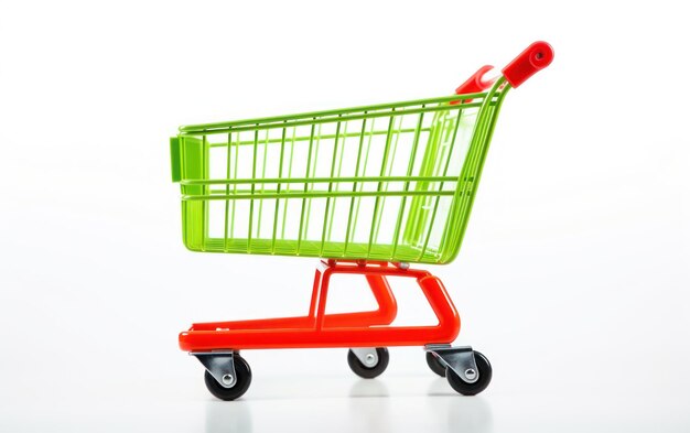
[[[196,323],[180,334],[208,390],[224,400],[247,391],[242,349],[346,347],[352,370],[374,378],[388,365],[387,346],[423,346],[453,389],[483,391],[490,364],[451,346],[455,306],[439,278],[409,263],[457,256],[503,100],[552,58],[536,42],[497,78],[482,67],[452,96],[181,127],[172,176],[188,249],[322,259],[308,315]],[[364,277],[378,308],[326,314],[334,275]],[[393,277],[419,285],[438,324],[391,325]]]

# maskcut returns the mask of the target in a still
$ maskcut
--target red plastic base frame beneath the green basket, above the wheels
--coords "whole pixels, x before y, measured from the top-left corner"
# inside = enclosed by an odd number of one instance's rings
[[[185,351],[316,347],[386,347],[450,344],[460,333],[460,315],[443,283],[430,272],[386,262],[324,261],[314,277],[309,315],[254,321],[195,323],[180,334]],[[325,314],[333,274],[360,274],[367,280],[378,310]],[[417,280],[439,318],[432,326],[389,326],[398,306],[387,277]]]

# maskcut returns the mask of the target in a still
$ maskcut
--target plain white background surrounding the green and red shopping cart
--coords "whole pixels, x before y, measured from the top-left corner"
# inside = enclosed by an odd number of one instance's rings
[[[0,431],[688,431],[680,4],[2,1]],[[556,59],[507,97],[460,258],[431,269],[487,391],[419,348],[374,381],[276,350],[214,400],[177,333],[304,314],[316,263],[185,250],[177,126],[446,95],[541,39]]]

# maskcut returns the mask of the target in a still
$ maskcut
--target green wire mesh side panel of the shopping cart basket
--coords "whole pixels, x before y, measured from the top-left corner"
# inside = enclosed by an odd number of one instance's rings
[[[481,101],[181,136],[193,250],[440,262]]]

